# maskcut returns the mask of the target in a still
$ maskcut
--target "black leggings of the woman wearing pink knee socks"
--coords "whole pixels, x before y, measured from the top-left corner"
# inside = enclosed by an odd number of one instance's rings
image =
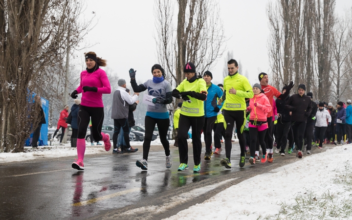
[[[103,136],[101,135],[101,129],[104,121],[104,108],[87,107],[82,105],[80,106],[77,117],[78,139],[86,138],[87,128],[90,120],[92,122],[92,132],[90,132],[90,136],[98,142],[103,139]]]

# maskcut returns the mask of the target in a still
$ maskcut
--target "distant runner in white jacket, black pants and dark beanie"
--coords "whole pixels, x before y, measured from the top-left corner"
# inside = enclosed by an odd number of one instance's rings
[[[324,142],[324,134],[331,123],[331,116],[328,110],[324,108],[324,103],[319,103],[319,109],[315,115],[315,133],[319,137],[319,147],[322,148]],[[307,152],[308,153],[308,152]],[[310,152],[309,152],[310,153]]]

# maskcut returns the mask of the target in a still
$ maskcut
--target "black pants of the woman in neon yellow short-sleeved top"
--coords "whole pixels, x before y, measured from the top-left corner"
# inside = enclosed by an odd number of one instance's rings
[[[200,163],[201,130],[204,126],[204,116],[192,117],[180,114],[178,122],[178,154],[180,163],[188,164],[188,131],[192,127],[193,160],[195,165]]]

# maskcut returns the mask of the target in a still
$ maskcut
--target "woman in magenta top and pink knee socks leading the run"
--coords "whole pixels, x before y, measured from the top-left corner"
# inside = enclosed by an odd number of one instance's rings
[[[94,52],[85,53],[87,69],[81,72],[81,83],[79,87],[71,93],[73,99],[77,94],[82,93],[81,106],[78,111],[77,125],[77,155],[78,160],[72,163],[72,168],[84,170],[83,158],[86,151],[86,134],[89,121],[92,124],[94,140],[104,141],[106,151],[110,151],[110,135],[102,133],[104,121],[103,94],[110,94],[110,82],[106,72],[99,66],[106,66],[107,61],[97,57]]]

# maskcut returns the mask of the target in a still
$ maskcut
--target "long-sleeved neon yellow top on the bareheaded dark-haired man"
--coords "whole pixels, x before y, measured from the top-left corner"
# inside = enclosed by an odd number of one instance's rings
[[[222,107],[224,110],[245,110],[247,107],[244,98],[253,98],[254,96],[248,79],[239,73],[232,76],[226,76],[224,79],[223,88],[226,90],[226,99]],[[237,90],[236,94],[229,93],[231,88],[235,88]]]

